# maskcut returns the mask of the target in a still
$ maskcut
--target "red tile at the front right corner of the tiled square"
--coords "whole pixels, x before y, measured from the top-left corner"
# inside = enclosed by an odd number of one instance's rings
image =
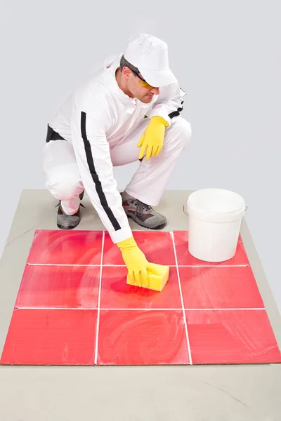
[[[192,363],[280,363],[266,310],[186,311]]]

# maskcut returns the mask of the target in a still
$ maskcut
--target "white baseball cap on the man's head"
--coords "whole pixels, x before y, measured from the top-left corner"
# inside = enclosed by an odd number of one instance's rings
[[[126,46],[124,58],[138,67],[143,79],[159,88],[176,83],[176,76],[169,69],[168,46],[156,36],[139,34]]]

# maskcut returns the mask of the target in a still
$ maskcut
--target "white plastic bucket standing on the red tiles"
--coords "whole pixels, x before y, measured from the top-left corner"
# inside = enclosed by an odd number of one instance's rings
[[[242,196],[224,189],[201,189],[190,194],[188,251],[199,260],[223,262],[236,253],[242,218]]]

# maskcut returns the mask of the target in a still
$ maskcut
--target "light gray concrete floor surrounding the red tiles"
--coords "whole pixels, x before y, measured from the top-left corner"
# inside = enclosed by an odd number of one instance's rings
[[[158,210],[165,228],[188,229],[190,192],[167,191]],[[104,229],[85,197],[78,229]],[[58,229],[47,190],[24,190],[0,262],[0,353],[35,229]],[[130,222],[132,229],[141,229]],[[242,220],[249,262],[281,347],[275,300]],[[237,366],[0,366],[2,421],[277,421],[281,364]],[[98,418],[97,418],[98,417]]]

